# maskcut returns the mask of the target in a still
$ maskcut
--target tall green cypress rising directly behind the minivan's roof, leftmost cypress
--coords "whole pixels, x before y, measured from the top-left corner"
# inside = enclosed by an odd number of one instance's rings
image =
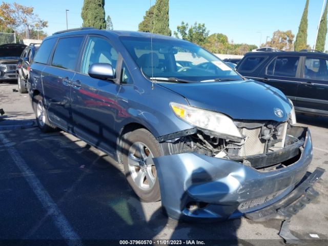
[[[81,17],[83,27],[106,29],[105,0],[84,0]]]

